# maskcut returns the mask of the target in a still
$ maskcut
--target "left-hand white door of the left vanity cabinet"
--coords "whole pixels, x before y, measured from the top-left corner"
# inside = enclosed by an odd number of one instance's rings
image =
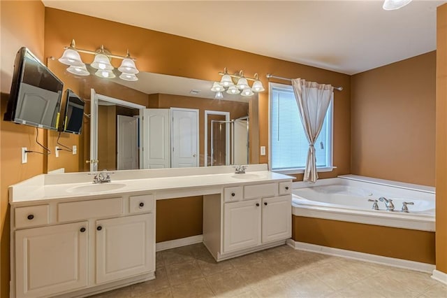
[[[87,234],[87,222],[16,231],[16,297],[47,297],[87,286]]]

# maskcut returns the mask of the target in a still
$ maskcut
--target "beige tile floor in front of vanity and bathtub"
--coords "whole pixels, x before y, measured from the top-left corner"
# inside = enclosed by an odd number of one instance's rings
[[[203,244],[156,253],[156,279],[94,296],[447,298],[430,274],[279,246],[215,262]]]

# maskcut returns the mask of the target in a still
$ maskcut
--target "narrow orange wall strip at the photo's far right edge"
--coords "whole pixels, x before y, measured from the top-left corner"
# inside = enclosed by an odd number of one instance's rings
[[[436,269],[447,274],[447,4],[437,10]]]

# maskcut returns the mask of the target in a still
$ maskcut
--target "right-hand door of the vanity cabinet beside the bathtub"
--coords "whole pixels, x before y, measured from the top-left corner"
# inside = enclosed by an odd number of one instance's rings
[[[263,243],[292,236],[291,196],[263,199]]]

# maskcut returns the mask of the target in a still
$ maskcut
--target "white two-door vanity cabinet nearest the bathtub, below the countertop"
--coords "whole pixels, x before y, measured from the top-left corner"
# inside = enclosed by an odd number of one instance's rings
[[[203,201],[203,242],[216,260],[291,238],[291,180],[224,187],[222,193]]]

